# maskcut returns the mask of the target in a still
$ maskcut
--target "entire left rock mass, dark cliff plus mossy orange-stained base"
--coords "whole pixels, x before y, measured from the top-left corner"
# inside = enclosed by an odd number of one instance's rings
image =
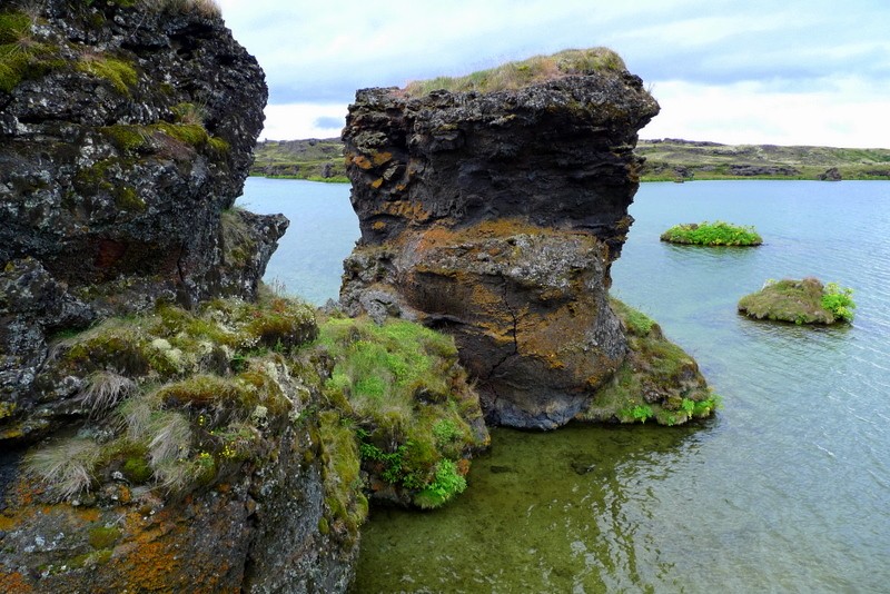
[[[231,208],[266,86],[209,7],[0,6],[2,592],[352,576],[357,445],[290,357],[314,313],[201,305],[253,300],[287,227]]]

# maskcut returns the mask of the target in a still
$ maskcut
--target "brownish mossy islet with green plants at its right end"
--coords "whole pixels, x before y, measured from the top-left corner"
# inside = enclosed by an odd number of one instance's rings
[[[823,286],[812,277],[768,280],[762,289],[739,300],[739,311],[755,319],[794,324],[849,323],[856,307],[852,293],[837,283]]]

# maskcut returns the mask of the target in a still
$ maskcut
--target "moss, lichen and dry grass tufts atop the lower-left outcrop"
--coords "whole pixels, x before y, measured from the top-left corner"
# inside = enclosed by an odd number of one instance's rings
[[[61,339],[58,376],[85,377],[81,436],[29,454],[53,498],[83,496],[115,473],[167,493],[224,481],[274,448],[288,412],[287,355],[315,338],[314,310],[284,298],[161,305]]]

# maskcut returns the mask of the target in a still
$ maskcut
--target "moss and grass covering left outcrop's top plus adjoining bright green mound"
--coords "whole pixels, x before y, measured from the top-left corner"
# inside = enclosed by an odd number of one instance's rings
[[[51,501],[91,501],[116,475],[166,496],[210,488],[275,458],[276,436],[309,422],[327,529],[348,538],[367,508],[359,464],[403,503],[436,507],[466,487],[466,458],[487,445],[449,337],[398,320],[319,328],[313,308],[268,291],[108,319],[53,353],[48,382],[85,378],[85,423],[26,458]],[[306,409],[312,394],[322,402]]]

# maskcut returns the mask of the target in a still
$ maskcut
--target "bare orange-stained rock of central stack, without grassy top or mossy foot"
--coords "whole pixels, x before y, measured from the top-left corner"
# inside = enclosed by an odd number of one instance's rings
[[[452,333],[490,420],[567,423],[626,352],[609,271],[632,222],[636,132],[656,112],[626,71],[358,91],[343,138],[362,241],[342,303]]]

